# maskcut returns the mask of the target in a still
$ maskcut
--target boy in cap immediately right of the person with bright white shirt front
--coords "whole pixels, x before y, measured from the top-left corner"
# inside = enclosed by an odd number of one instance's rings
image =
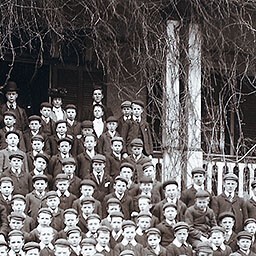
[[[99,137],[97,149],[100,154],[106,155],[111,152],[111,140],[114,137],[120,137],[120,134],[116,131],[118,120],[114,116],[108,117],[106,120],[106,132],[103,132]]]

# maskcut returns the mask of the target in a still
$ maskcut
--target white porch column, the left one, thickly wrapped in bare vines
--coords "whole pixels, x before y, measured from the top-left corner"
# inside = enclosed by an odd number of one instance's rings
[[[179,22],[167,21],[168,52],[166,84],[163,89],[163,180],[181,183],[179,151]]]

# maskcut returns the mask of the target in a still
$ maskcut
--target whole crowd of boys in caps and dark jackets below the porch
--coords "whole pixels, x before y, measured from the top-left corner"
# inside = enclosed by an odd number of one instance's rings
[[[0,255],[225,256],[256,255],[253,196],[236,195],[238,177],[223,177],[223,193],[161,183],[152,163],[152,135],[139,100],[116,118],[93,92],[86,119],[62,108],[60,95],[26,118],[9,82],[0,109]]]

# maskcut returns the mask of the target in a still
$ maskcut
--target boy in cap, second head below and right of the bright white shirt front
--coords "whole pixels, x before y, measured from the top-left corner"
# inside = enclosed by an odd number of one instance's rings
[[[122,149],[124,140],[122,137],[113,137],[111,139],[111,150],[106,154],[106,165],[110,170],[110,176],[115,179],[120,172],[122,162]]]

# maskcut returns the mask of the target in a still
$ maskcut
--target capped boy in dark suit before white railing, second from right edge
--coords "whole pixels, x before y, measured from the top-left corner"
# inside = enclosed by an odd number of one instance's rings
[[[224,191],[212,200],[212,209],[218,217],[222,212],[233,212],[236,218],[234,231],[243,230],[244,221],[248,218],[246,204],[243,198],[238,197],[236,189],[238,177],[228,173],[223,178]]]

